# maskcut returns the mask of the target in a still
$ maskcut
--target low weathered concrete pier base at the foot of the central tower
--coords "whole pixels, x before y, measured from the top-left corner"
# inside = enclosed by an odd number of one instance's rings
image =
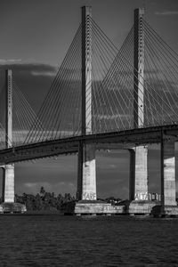
[[[112,206],[110,203],[92,200],[80,200],[75,206],[76,215],[93,215],[93,214],[126,214],[125,206]]]

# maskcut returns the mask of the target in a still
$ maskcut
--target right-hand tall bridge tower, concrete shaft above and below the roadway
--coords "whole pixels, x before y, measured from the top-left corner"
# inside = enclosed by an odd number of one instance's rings
[[[144,9],[134,10],[134,128],[144,126]],[[130,214],[142,212],[148,199],[148,147],[130,150]],[[139,204],[141,202],[141,205]],[[140,210],[141,209],[141,210]]]

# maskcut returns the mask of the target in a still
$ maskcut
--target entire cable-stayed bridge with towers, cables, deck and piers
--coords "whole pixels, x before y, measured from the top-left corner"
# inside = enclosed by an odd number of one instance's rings
[[[0,113],[3,197],[14,202],[14,163],[77,153],[76,214],[178,214],[178,54],[134,11],[117,49],[82,7],[82,21],[37,114],[6,72]],[[4,104],[5,103],[5,104]],[[148,198],[148,145],[160,143],[161,202]],[[130,206],[99,203],[95,151],[130,151]]]

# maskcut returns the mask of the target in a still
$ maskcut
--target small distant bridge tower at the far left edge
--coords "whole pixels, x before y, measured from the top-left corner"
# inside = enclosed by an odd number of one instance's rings
[[[5,146],[12,147],[12,70],[6,70]],[[3,200],[14,202],[14,165],[3,166]]]

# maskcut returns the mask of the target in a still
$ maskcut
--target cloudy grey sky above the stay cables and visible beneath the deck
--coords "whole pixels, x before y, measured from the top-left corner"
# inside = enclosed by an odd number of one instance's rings
[[[177,0],[1,0],[0,91],[11,68],[20,90],[39,109],[81,21],[80,7],[91,5],[93,20],[119,48],[134,23],[134,9],[145,8],[150,26],[178,53]],[[99,151],[98,197],[128,197],[129,153]],[[150,191],[159,191],[159,150],[150,147]],[[2,174],[0,188],[2,184]],[[77,156],[46,158],[15,165],[16,193],[40,187],[57,193],[77,190]]]

